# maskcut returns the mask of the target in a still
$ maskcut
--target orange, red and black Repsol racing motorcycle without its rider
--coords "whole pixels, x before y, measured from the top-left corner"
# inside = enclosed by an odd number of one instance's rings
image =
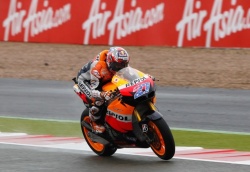
[[[80,119],[82,134],[93,152],[111,156],[121,148],[151,147],[163,160],[174,156],[175,141],[155,106],[156,86],[152,77],[128,66],[116,72],[102,90],[112,92],[102,110],[105,132],[93,130],[88,108]]]

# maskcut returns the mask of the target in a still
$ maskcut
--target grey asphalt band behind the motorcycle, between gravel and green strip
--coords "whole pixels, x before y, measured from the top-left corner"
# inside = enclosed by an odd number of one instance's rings
[[[0,116],[78,121],[73,82],[0,79]],[[157,107],[170,127],[250,132],[250,90],[159,87]]]

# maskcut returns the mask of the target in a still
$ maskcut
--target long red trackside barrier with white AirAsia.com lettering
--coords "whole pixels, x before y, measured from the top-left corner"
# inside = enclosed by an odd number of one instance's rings
[[[0,41],[250,47],[249,0],[0,0]]]

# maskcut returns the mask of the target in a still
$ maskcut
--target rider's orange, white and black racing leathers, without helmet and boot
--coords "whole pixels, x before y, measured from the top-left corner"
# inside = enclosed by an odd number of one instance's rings
[[[103,92],[102,86],[110,81],[113,73],[108,69],[106,64],[106,54],[108,50],[100,52],[92,61],[85,64],[77,74],[76,81],[78,82],[77,89],[86,95],[83,102],[89,108],[89,116],[92,121],[97,121],[101,118],[101,108],[105,99],[110,99],[110,92]]]

